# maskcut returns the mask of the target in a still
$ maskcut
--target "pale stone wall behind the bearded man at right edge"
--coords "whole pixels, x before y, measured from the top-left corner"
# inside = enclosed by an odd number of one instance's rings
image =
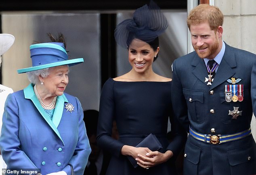
[[[256,53],[256,0],[214,0],[224,15],[222,39],[230,46]],[[255,80],[256,81],[256,80]],[[256,119],[252,118],[256,140]]]

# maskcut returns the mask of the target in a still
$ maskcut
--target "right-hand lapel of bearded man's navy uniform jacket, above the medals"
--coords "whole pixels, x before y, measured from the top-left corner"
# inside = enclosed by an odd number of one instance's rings
[[[233,52],[230,51],[230,46],[226,44],[226,50],[223,55],[223,58],[220,62],[218,70],[215,74],[214,81],[210,86],[210,90],[217,87],[224,81],[227,81],[232,75],[235,74],[235,70],[232,68],[237,66],[237,62],[235,59],[235,55]]]

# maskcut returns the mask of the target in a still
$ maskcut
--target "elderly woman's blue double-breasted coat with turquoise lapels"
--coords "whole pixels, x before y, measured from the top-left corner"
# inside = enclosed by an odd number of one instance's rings
[[[67,110],[65,104],[73,110]],[[72,165],[75,175],[84,173],[91,149],[76,97],[58,96],[50,120],[29,85],[9,94],[4,109],[0,148],[7,168],[70,175]]]

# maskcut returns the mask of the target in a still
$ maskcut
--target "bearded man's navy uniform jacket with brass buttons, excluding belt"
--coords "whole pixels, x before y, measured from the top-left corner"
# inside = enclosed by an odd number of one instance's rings
[[[204,60],[191,52],[172,65],[172,104],[174,115],[189,131],[228,135],[250,128],[252,119],[251,71],[256,55],[226,45],[225,54],[212,85],[205,82],[208,72]],[[243,101],[227,102],[227,80],[241,79]],[[237,119],[229,115],[234,107],[242,111]],[[214,133],[211,131],[214,129]],[[185,175],[256,174],[256,144],[249,135],[240,140],[212,145],[189,135],[185,146]]]

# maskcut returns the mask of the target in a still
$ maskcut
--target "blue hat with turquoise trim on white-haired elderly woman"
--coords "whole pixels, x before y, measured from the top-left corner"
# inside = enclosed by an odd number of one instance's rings
[[[73,66],[84,62],[84,58],[69,60],[64,44],[61,42],[33,44],[29,49],[32,67],[18,69],[18,73],[26,73],[62,65]]]

